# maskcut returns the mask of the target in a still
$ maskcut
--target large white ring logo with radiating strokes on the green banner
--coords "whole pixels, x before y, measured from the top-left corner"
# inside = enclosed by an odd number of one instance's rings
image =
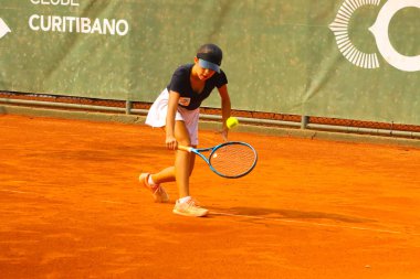
[[[348,36],[348,24],[353,13],[361,6],[379,6],[380,0],[346,0],[338,10],[338,13],[329,24],[334,32],[338,50],[353,64],[363,68],[378,68],[379,61],[377,53],[364,53],[353,45]],[[389,0],[380,9],[375,24],[369,28],[374,34],[378,50],[382,57],[393,67],[405,72],[420,71],[420,55],[406,56],[397,52],[389,40],[389,23],[393,15],[403,8],[419,8],[420,0]]]

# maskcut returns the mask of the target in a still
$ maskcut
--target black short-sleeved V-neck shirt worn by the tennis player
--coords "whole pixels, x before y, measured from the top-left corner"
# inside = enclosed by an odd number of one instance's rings
[[[214,73],[209,79],[206,81],[204,88],[201,93],[196,93],[192,90],[190,83],[190,75],[193,64],[186,64],[179,66],[172,75],[170,83],[167,88],[168,92],[177,92],[180,94],[179,106],[193,110],[200,107],[201,103],[210,96],[210,93],[214,87],[222,87],[228,84],[228,78],[223,71],[220,69],[220,73]]]

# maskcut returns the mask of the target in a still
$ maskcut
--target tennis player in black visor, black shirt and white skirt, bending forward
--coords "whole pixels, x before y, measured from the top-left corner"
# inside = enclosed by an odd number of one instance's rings
[[[161,183],[176,181],[179,200],[174,213],[186,216],[206,216],[208,210],[200,207],[190,196],[189,178],[196,157],[193,153],[177,150],[178,144],[198,146],[198,121],[201,103],[210,96],[214,87],[221,97],[222,137],[228,139],[225,120],[231,114],[228,93],[228,78],[220,68],[222,51],[214,44],[199,47],[193,64],[179,66],[169,83],[151,105],[146,124],[151,127],[165,127],[166,146],[176,150],[175,165],[158,173],[141,173],[140,183],[151,191],[155,202],[165,203],[169,196]]]

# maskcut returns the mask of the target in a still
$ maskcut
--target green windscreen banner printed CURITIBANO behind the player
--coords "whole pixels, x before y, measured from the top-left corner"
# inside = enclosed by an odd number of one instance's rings
[[[154,101],[209,42],[234,109],[420,125],[420,0],[1,0],[0,90]]]

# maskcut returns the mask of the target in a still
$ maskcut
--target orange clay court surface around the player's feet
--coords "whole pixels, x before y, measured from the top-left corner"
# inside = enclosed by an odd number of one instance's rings
[[[420,150],[232,131],[239,180],[198,158],[206,218],[139,186],[174,161],[143,125],[0,116],[0,277],[420,278]],[[201,131],[201,147],[220,136]]]

